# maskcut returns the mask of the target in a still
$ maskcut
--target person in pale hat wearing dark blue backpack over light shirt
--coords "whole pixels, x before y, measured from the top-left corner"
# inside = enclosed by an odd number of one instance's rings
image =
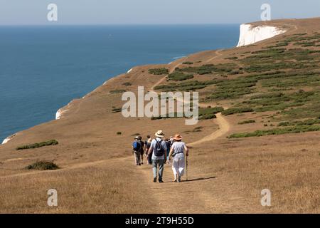
[[[154,135],[156,138],[151,141],[151,146],[148,152],[148,156],[152,159],[152,170],[154,172],[154,182],[156,182],[157,169],[159,167],[159,183],[163,183],[162,177],[164,174],[164,163],[166,162],[166,142],[162,140],[164,138],[164,132],[158,130]]]

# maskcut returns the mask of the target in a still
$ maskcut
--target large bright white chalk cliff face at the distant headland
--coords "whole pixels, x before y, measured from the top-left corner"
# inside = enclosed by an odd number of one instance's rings
[[[237,47],[250,45],[272,38],[286,31],[274,26],[252,26],[251,24],[240,25],[240,38]]]

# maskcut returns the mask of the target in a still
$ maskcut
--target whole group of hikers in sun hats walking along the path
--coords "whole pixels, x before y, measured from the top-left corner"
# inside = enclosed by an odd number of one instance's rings
[[[182,142],[179,134],[174,137],[165,138],[164,132],[158,130],[155,138],[151,140],[150,135],[146,136],[143,141],[141,136],[136,136],[132,143],[134,153],[134,161],[136,165],[144,164],[144,154],[146,154],[146,162],[152,165],[154,173],[154,182],[157,178],[159,183],[163,182],[164,164],[171,164],[174,172],[174,182],[181,182],[181,177],[185,169],[185,157],[188,156],[188,147]]]

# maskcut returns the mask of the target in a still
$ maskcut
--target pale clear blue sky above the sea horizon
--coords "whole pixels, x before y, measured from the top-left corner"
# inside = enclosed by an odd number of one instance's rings
[[[50,3],[54,24],[241,24],[260,21],[264,3],[272,19],[320,16],[320,0],[0,0],[0,25],[53,24]]]

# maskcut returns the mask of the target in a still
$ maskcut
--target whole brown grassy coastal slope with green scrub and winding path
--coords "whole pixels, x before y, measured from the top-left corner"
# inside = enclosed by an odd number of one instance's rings
[[[274,36],[263,35],[261,41],[257,33],[255,38],[242,35],[238,48],[134,67],[71,101],[57,120],[0,145],[0,211],[320,212],[320,19],[250,25],[285,32],[270,32]],[[152,73],[161,68],[168,73]],[[183,118],[124,118],[122,93],[137,93],[138,86],[157,92],[197,90],[201,120],[185,125]],[[159,129],[167,136],[181,133],[191,145],[188,182],[171,182],[166,165],[165,183],[154,184],[150,166],[134,165],[134,135]],[[53,139],[59,144],[16,150]],[[60,170],[25,169],[37,160],[53,161]],[[59,192],[58,207],[46,205],[50,188]],[[272,207],[260,204],[266,188]]]

